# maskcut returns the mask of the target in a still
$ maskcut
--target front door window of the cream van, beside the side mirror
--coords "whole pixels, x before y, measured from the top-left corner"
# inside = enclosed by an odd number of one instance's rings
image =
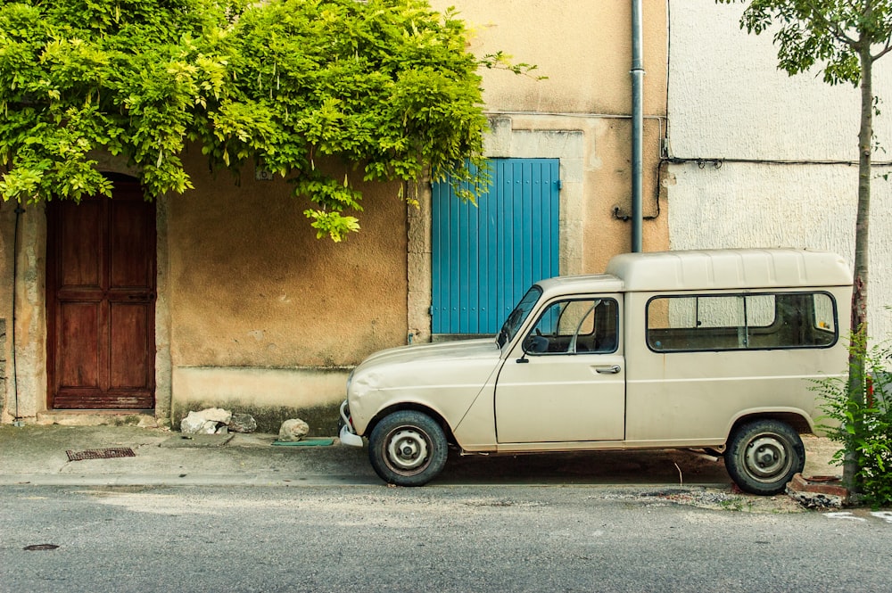
[[[615,352],[619,306],[613,299],[574,299],[549,305],[524,338],[531,355]]]

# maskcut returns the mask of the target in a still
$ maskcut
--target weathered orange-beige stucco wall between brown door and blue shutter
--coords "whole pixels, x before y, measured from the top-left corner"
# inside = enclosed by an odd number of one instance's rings
[[[323,407],[310,424],[334,430],[346,369],[407,342],[399,185],[360,183],[362,230],[333,243],[317,239],[303,215],[310,203],[281,179],[255,180],[248,168],[236,185],[200,154],[186,162],[196,189],[167,202],[174,421],[211,405],[260,418]]]

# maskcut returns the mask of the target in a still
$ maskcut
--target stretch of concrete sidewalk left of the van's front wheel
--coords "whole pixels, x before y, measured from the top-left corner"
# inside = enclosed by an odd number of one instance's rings
[[[0,484],[380,483],[360,449],[278,447],[272,445],[276,439],[238,433],[190,439],[180,432],[129,426],[3,426]],[[120,448],[131,449],[134,457],[70,461],[67,454]]]

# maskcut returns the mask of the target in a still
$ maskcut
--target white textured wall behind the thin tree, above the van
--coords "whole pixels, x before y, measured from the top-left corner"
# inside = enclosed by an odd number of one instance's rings
[[[859,92],[818,72],[777,70],[772,35],[739,28],[743,4],[669,1],[669,167],[672,249],[792,246],[855,252]],[[892,110],[892,57],[874,64],[874,92]],[[884,110],[883,106],[880,106]],[[892,117],[875,119],[892,161]],[[809,161],[818,161],[814,164]],[[871,204],[870,333],[892,338],[892,180],[877,168]],[[841,303],[847,315],[847,303]]]

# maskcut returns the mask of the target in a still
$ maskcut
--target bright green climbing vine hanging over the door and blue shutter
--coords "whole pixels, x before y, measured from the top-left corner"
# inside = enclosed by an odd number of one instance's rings
[[[359,229],[359,180],[479,181],[476,70],[533,67],[466,45],[425,0],[0,0],[0,195],[110,194],[100,151],[149,197],[183,193],[195,142],[213,167],[292,180],[340,241]]]

